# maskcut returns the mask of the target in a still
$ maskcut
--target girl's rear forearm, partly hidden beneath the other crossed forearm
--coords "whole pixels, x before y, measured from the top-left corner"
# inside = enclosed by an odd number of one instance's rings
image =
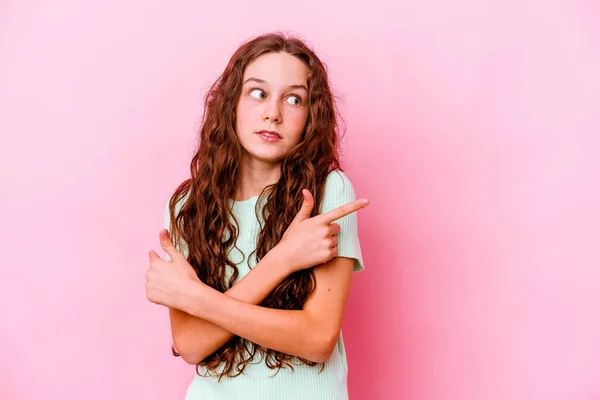
[[[260,304],[288,275],[284,259],[273,251],[225,292],[245,303]],[[169,308],[175,348],[189,364],[197,364],[229,341],[233,334],[205,319]]]

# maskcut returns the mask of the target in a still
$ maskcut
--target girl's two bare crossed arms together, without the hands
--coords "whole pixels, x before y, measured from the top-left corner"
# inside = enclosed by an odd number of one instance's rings
[[[342,325],[354,260],[334,257],[315,267],[316,288],[302,310],[259,306],[287,276],[285,262],[277,253],[267,253],[225,293],[190,288],[190,301],[182,310],[169,308],[181,357],[195,365],[237,335],[311,361],[327,360]]]

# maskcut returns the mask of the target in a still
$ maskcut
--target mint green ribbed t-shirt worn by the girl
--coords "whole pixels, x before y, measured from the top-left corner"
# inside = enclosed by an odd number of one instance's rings
[[[342,171],[332,171],[327,176],[325,193],[319,211],[325,213],[355,199],[354,188],[348,177]],[[264,198],[261,199],[261,201],[265,200]],[[239,236],[236,245],[241,252],[232,246],[228,254],[230,260],[237,263],[239,270],[237,283],[250,271],[248,264],[252,267],[257,264],[255,254],[252,254],[250,260],[248,256],[256,248],[257,235],[260,231],[259,220],[255,214],[258,196],[245,201],[230,201],[233,213],[239,223]],[[260,212],[258,215],[262,217]],[[338,257],[353,258],[354,271],[362,271],[364,265],[358,240],[357,213],[354,212],[335,222],[341,228],[338,235]],[[165,228],[169,229],[169,225],[167,200]],[[185,244],[180,246],[179,250],[187,256]],[[169,259],[168,256],[167,258]],[[257,357],[259,360],[256,360]],[[217,377],[199,376],[194,368],[194,377],[188,386],[185,400],[348,399],[348,364],[341,331],[337,347],[325,362],[323,371],[320,371],[320,364],[309,367],[306,364],[295,362],[293,366],[293,371],[289,367],[282,368],[274,375],[275,370],[268,368],[260,353],[257,352],[255,359],[246,366],[243,374],[235,378],[224,376],[220,382]],[[199,367],[199,370],[203,375],[206,375],[206,370],[203,367]]]

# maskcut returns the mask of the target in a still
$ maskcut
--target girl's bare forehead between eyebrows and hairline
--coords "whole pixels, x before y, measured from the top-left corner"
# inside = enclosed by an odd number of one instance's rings
[[[308,66],[288,53],[267,53],[248,64],[243,80],[258,78],[269,84],[306,85],[308,73]]]

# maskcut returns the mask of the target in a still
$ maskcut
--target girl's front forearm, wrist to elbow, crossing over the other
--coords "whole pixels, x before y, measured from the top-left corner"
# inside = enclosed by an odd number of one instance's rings
[[[202,284],[199,284],[202,285]],[[266,348],[325,361],[332,335],[306,310],[261,307],[225,296],[208,286],[191,293],[186,312]]]

